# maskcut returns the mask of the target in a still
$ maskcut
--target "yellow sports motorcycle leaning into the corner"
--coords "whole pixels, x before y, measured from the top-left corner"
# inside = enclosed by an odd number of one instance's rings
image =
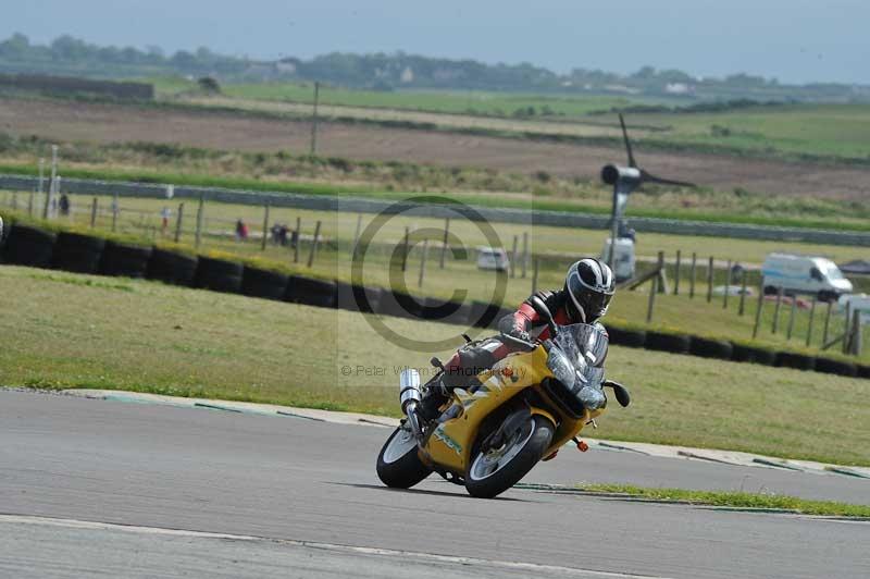
[[[408,489],[437,472],[473,496],[490,498],[566,443],[573,440],[584,449],[576,436],[605,411],[605,387],[613,390],[620,405],[629,405],[627,390],[604,380],[608,340],[602,329],[558,327],[543,301],[533,298],[532,305],[552,337],[526,343],[502,335],[521,350],[477,374],[480,385],[453,389],[438,418],[421,418],[418,407],[427,386],[415,369],[402,371],[405,419],[377,457],[384,484]]]

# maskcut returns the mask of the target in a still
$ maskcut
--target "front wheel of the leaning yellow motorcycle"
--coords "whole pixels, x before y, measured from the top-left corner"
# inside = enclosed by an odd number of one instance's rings
[[[517,484],[544,456],[555,431],[549,420],[533,416],[500,447],[477,448],[465,472],[469,494],[493,498]]]

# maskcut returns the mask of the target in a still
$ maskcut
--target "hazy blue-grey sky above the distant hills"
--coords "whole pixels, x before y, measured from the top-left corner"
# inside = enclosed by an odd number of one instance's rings
[[[207,46],[254,58],[331,51],[626,73],[870,84],[868,0],[8,0],[0,36]],[[14,8],[13,8],[14,7]]]

